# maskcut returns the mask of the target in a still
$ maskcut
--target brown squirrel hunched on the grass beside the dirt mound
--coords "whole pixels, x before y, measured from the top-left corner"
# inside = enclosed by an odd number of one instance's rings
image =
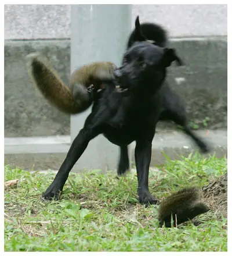
[[[158,210],[160,227],[164,224],[165,227],[171,227],[171,219],[173,219],[173,226],[177,226],[180,223],[193,219],[197,215],[208,212],[209,207],[200,202],[200,195],[200,189],[186,187],[165,198]]]

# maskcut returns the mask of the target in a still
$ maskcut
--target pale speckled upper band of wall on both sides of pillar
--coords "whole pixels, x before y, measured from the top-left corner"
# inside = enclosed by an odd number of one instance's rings
[[[137,15],[172,37],[227,35],[227,5],[133,5]],[[23,38],[70,38],[70,5],[5,5],[5,39]]]

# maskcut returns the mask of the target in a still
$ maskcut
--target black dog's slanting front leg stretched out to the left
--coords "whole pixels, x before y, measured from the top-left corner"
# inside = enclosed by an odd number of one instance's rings
[[[50,184],[48,189],[42,195],[46,200],[51,200],[52,198],[55,200],[59,199],[59,195],[63,190],[64,184],[66,183],[68,175],[74,164],[85,151],[89,141],[102,133],[102,125],[110,116],[110,111],[107,106],[105,108],[102,107],[95,109],[97,110],[90,113],[85,121],[84,127],[79,131],[77,137],[71,144],[66,159],[64,159],[64,162],[57,172],[52,184]]]

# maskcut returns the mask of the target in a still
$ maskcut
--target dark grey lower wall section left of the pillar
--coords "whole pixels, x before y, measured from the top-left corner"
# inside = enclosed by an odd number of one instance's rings
[[[5,41],[5,137],[70,134],[70,116],[50,106],[28,77],[24,58],[34,51],[68,81],[70,41]]]

